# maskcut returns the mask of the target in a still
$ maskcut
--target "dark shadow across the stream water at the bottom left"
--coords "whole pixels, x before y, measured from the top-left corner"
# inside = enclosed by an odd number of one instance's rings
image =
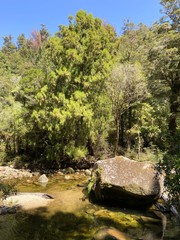
[[[18,213],[4,217],[7,221],[3,221],[0,227],[0,239],[3,240],[85,240],[92,239],[101,225],[119,226],[112,219],[94,218],[79,212],[57,212],[49,216],[47,208],[38,208],[33,214]]]

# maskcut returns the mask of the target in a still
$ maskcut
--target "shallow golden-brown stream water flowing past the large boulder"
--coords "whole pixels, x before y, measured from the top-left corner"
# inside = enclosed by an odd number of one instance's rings
[[[46,192],[54,201],[46,207],[0,216],[0,240],[91,240],[102,227],[114,227],[132,240],[179,240],[180,226],[168,216],[162,238],[162,221],[151,210],[105,207],[92,204],[83,187],[88,178],[70,174],[70,179],[55,174],[46,186],[37,179],[17,184],[21,192]]]

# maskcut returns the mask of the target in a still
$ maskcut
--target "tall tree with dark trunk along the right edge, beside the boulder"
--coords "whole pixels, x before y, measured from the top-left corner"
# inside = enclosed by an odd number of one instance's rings
[[[154,99],[167,106],[168,131],[165,139],[165,156],[160,163],[166,172],[166,183],[171,194],[179,199],[180,151],[180,2],[162,0],[165,17],[152,27],[149,51],[151,66],[150,89]],[[153,87],[154,86],[154,87]]]

